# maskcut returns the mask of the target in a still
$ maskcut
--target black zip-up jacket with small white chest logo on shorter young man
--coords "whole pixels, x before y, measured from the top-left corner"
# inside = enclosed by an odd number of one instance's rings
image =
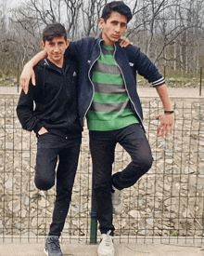
[[[22,128],[36,134],[44,127],[61,137],[82,136],[78,115],[78,65],[65,58],[63,68],[47,59],[34,67],[36,86],[21,91],[17,115]]]

